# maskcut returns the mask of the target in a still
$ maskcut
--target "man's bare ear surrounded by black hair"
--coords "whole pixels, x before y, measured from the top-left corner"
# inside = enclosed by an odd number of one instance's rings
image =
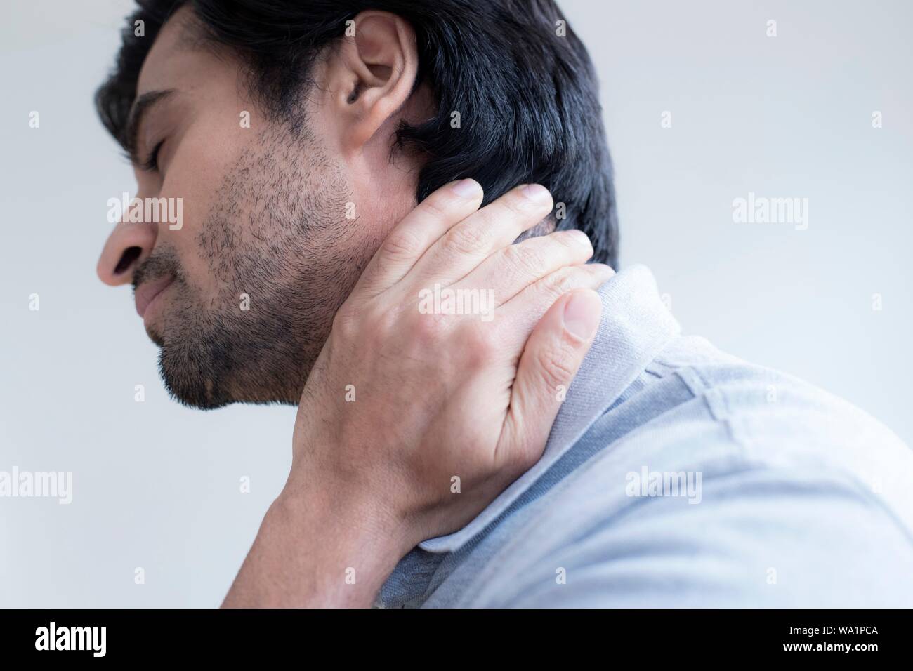
[[[418,74],[415,31],[403,18],[366,11],[354,21],[327,72],[344,152],[361,151],[394,119],[412,95]]]

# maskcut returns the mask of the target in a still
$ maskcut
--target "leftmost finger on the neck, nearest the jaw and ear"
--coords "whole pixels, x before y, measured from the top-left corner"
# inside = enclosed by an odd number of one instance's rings
[[[482,186],[471,179],[451,182],[430,194],[394,226],[362,271],[352,295],[372,299],[393,287],[428,247],[476,212],[483,195]]]

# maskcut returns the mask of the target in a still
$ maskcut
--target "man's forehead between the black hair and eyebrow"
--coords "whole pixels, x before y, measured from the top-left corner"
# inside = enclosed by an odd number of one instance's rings
[[[193,10],[179,9],[169,18],[142,63],[136,95],[157,89],[192,91],[205,83],[234,79],[236,63],[227,54],[216,55],[215,49],[200,38]]]

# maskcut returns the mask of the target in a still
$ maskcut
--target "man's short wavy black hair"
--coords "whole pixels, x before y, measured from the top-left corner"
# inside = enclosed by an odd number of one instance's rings
[[[463,177],[486,203],[519,183],[541,183],[558,228],[580,228],[593,260],[617,264],[613,171],[598,84],[586,48],[552,0],[137,0],[110,78],[96,93],[101,121],[124,144],[142,61],[165,21],[190,5],[205,40],[247,64],[249,88],[272,115],[294,121],[315,58],[346,21],[368,9],[415,29],[419,71],[436,115],[403,124],[396,146],[425,157],[417,198]],[[144,37],[135,36],[142,21]],[[460,127],[453,128],[452,113]],[[563,212],[561,211],[561,204]],[[561,217],[561,215],[564,215]]]

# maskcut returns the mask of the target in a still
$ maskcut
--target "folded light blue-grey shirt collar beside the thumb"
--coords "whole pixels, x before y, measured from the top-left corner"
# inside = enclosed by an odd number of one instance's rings
[[[466,527],[424,540],[419,548],[453,552],[488,527],[580,440],[681,330],[659,298],[653,273],[645,266],[628,267],[615,274],[599,289],[599,295],[603,299],[599,330],[551,426],[540,460]]]

